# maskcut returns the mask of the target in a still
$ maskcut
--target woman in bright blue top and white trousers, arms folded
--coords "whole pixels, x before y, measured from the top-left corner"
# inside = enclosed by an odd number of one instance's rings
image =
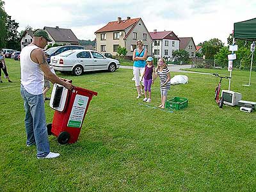
[[[137,42],[137,49],[134,49],[132,60],[133,63],[133,75],[135,77],[135,86],[138,92],[139,99],[141,97],[141,88],[140,88],[140,76],[143,76],[145,65],[146,65],[146,59],[147,59],[147,49],[143,48],[143,42],[141,40],[138,40]],[[141,79],[143,81],[143,79]]]

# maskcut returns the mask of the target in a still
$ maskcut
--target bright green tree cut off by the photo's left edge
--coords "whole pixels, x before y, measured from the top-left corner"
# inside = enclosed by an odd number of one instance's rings
[[[4,1],[0,0],[0,48],[6,46],[6,13],[4,12]]]

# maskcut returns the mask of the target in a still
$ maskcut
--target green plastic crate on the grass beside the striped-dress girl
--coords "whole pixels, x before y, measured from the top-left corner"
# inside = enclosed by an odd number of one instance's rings
[[[173,99],[166,100],[164,108],[167,109],[183,109],[188,107],[188,99],[184,97],[173,97]]]

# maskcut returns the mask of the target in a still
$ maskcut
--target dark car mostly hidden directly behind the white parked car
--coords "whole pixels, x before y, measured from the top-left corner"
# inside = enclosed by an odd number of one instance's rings
[[[57,54],[60,54],[61,52],[73,49],[84,49],[84,47],[80,45],[63,45],[58,47],[51,47],[45,51],[45,54],[47,55],[47,62],[51,62],[51,56],[55,56]]]

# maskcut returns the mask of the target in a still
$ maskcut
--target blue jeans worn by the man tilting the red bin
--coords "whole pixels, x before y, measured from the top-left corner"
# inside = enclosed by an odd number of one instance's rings
[[[28,93],[22,84],[20,94],[24,100],[26,112],[27,145],[36,144],[37,157],[45,157],[50,152],[50,145],[45,120],[44,96]]]

